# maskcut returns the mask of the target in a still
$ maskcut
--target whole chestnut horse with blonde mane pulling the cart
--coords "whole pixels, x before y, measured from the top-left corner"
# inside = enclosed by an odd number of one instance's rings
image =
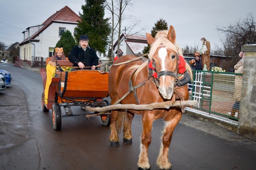
[[[150,104],[168,100],[188,99],[187,86],[178,87],[176,83],[181,69],[186,70],[190,76],[192,72],[185,61],[183,61],[184,66],[182,68],[179,67],[183,55],[181,48],[176,43],[176,33],[173,26],[170,26],[169,30],[158,32],[156,38],[147,33],[147,41],[151,45],[147,61],[142,59],[135,60],[138,56],[125,55],[113,63],[109,71],[111,104],[119,102],[119,99],[123,98],[129,90],[131,93],[120,101],[121,104]],[[152,68],[153,71],[150,71],[149,68]],[[151,76],[152,73],[153,76]],[[157,78],[154,78],[154,76]],[[133,88],[135,86],[138,86],[136,90]],[[119,112],[124,112],[125,114],[120,114]],[[160,118],[165,121],[165,127],[157,158],[157,166],[159,169],[171,169],[168,151],[173,130],[182,115],[181,107],[154,110],[112,110],[111,134],[109,137],[111,146],[120,146],[118,131],[122,122],[121,118],[125,119],[123,122],[123,143],[132,143],[131,124],[134,114],[142,115],[143,131],[138,161],[139,169],[150,169],[148,147],[151,143],[151,129],[153,121]]]

